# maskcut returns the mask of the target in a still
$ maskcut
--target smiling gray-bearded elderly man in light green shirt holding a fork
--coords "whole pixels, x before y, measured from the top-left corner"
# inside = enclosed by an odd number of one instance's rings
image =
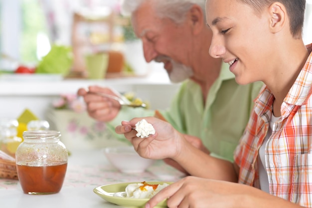
[[[183,81],[161,115],[197,148],[233,161],[262,83],[238,85],[228,66],[209,56],[212,32],[205,21],[205,0],[124,0],[122,8],[132,14],[146,61],[163,62],[172,82]],[[89,92],[114,94],[98,86],[90,86]],[[122,120],[155,113],[121,107],[85,89],[78,94],[84,96],[89,115],[113,130]],[[174,161],[166,162],[174,166]]]

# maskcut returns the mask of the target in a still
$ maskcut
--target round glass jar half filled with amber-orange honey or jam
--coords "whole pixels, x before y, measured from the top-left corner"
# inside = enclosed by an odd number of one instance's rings
[[[59,131],[24,131],[15,159],[18,180],[25,194],[58,193],[63,185],[68,151]]]

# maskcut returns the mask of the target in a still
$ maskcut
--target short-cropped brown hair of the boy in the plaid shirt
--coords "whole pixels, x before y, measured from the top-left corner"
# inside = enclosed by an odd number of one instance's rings
[[[281,2],[285,5],[289,15],[290,30],[294,38],[302,38],[304,27],[306,0],[240,0],[249,4],[260,14],[265,6],[270,6],[273,2]]]

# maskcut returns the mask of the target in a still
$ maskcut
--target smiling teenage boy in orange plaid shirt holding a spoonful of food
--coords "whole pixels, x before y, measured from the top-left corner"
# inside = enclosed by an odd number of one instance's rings
[[[201,153],[153,117],[146,120],[156,134],[146,139],[131,130],[142,118],[116,127],[142,157],[171,158],[193,175],[160,191],[146,208],[164,199],[169,208],[312,207],[312,45],[302,40],[305,4],[206,0],[210,55],[229,63],[239,84],[263,81],[266,87],[234,163]]]

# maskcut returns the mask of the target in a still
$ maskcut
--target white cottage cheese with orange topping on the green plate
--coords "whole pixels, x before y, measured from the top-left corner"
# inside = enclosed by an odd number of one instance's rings
[[[126,187],[127,198],[134,199],[150,199],[155,196],[160,190],[169,186],[169,184],[163,183],[161,184],[148,184],[146,182],[142,182],[139,184],[129,184]]]

